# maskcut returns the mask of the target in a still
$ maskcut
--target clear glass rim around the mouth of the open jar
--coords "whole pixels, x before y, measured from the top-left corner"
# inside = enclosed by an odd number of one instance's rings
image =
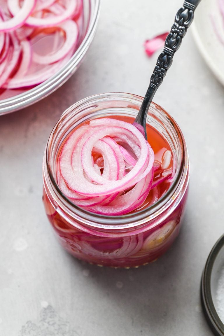
[[[178,186],[180,186],[180,182],[182,178],[184,179],[187,176],[187,171],[188,171],[188,153],[187,153],[187,147],[186,143],[183,137],[183,134],[175,122],[175,120],[158,104],[152,102],[151,106],[154,108],[158,109],[160,113],[166,116],[166,119],[172,126],[173,130],[175,130],[176,134],[178,135],[178,139],[181,144],[181,148],[183,151],[182,154],[182,160],[181,164],[179,167],[179,170],[176,173],[176,177],[174,178],[174,181],[172,182],[171,186],[169,187],[168,191],[165,193],[164,196],[162,196],[157,202],[155,202],[153,205],[149,206],[146,209],[136,211],[134,213],[127,213],[125,215],[119,215],[119,216],[108,216],[108,215],[100,215],[96,213],[92,213],[90,211],[84,210],[79,206],[76,206],[74,203],[72,203],[59,189],[57,183],[54,180],[53,174],[51,172],[51,167],[48,162],[48,151],[49,147],[51,145],[51,140],[52,137],[55,135],[57,131],[57,127],[59,124],[62,123],[63,119],[65,119],[72,111],[75,109],[79,109],[81,107],[84,107],[84,105],[87,105],[88,103],[91,103],[91,106],[94,106],[94,104],[97,103],[97,101],[101,101],[103,99],[108,100],[113,100],[113,99],[119,99],[119,100],[126,100],[126,101],[135,101],[141,104],[143,97],[135,95],[135,94],[130,94],[130,93],[122,93],[122,92],[109,92],[109,93],[101,93],[101,94],[96,94],[92,95],[89,97],[86,97],[76,103],[74,103],[72,106],[70,106],[68,109],[66,109],[56,125],[54,126],[51,135],[49,137],[49,140],[47,142],[46,150],[45,150],[45,157],[46,159],[46,166],[47,166],[47,173],[51,182],[51,187],[53,188],[53,192],[56,193],[56,195],[60,196],[63,201],[66,202],[66,210],[69,213],[69,215],[73,216],[75,215],[76,219],[82,219],[83,222],[85,222],[86,225],[88,226],[93,226],[93,227],[98,227],[98,228],[127,228],[127,227],[133,227],[137,225],[141,225],[145,223],[146,219],[147,221],[149,220],[149,217],[152,214],[156,213],[161,213],[165,209],[167,209],[171,205],[171,201],[177,198],[177,196],[180,193],[180,190],[178,189]],[[150,108],[149,108],[150,110]],[[81,112],[80,110],[79,112]],[[170,201],[170,202],[168,202]],[[57,202],[55,202],[57,203]],[[62,202],[64,205],[64,202]],[[58,209],[57,209],[58,210]],[[78,216],[78,217],[77,217]],[[106,225],[105,225],[106,222]],[[135,224],[130,224],[130,222],[135,222]],[[103,225],[104,224],[104,225]]]

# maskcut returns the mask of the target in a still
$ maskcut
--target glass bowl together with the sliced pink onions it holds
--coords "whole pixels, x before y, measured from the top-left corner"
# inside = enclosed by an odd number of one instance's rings
[[[0,0],[0,5],[3,115],[46,97],[74,74],[95,34],[99,0]]]

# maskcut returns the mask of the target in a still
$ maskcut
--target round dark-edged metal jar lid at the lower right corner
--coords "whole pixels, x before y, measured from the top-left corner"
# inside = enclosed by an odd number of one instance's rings
[[[224,336],[224,282],[222,316],[220,316],[220,300],[217,294],[221,276],[224,281],[224,235],[213,246],[201,278],[203,310],[213,333],[218,336]]]

